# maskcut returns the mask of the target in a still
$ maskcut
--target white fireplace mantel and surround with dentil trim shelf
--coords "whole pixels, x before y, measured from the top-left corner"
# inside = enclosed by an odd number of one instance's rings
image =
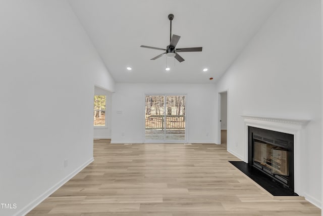
[[[302,161],[301,152],[305,148],[304,127],[310,120],[275,118],[254,115],[241,115],[244,118],[244,162],[248,163],[248,127],[258,127],[271,131],[294,135],[294,191],[300,196],[305,196],[304,183],[306,176],[306,165]]]

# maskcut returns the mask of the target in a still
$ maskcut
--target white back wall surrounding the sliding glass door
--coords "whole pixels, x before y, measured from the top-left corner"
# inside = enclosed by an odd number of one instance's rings
[[[216,102],[211,84],[116,84],[112,143],[144,142],[145,94],[187,94],[188,142],[215,143]],[[122,114],[117,114],[117,111]],[[122,136],[124,135],[124,136]]]

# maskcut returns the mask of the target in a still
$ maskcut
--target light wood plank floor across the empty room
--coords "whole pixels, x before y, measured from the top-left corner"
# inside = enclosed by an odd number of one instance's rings
[[[302,197],[273,197],[228,160],[224,145],[109,144],[28,215],[320,215]]]

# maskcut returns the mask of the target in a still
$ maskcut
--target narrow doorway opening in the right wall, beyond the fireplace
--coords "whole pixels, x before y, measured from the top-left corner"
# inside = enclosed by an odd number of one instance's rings
[[[219,93],[219,141],[227,145],[228,135],[228,91]]]

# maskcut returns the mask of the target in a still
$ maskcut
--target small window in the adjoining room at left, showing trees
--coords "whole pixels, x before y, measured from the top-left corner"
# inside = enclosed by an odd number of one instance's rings
[[[94,126],[105,126],[106,96],[94,96]]]

